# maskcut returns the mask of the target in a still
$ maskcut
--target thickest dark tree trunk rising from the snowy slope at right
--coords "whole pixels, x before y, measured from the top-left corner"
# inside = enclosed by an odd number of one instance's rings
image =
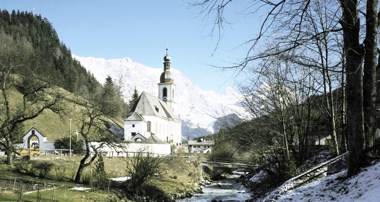
[[[366,165],[361,67],[364,48],[359,44],[358,2],[341,0],[340,3],[343,8],[342,26],[347,62],[347,132],[350,151],[348,175],[352,176]]]

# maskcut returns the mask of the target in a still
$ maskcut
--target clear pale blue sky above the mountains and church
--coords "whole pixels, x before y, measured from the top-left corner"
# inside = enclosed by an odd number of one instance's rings
[[[186,0],[187,1],[187,0]],[[166,48],[171,67],[180,70],[203,90],[222,93],[238,89],[234,71],[212,66],[231,66],[246,54],[237,47],[257,32],[258,18],[241,12],[244,1],[225,11],[222,38],[210,36],[212,18],[204,19],[200,9],[173,1],[18,1],[0,0],[0,9],[32,12],[47,18],[60,40],[80,57],[120,59],[129,57],[148,67],[163,68]],[[216,50],[215,50],[216,48]]]

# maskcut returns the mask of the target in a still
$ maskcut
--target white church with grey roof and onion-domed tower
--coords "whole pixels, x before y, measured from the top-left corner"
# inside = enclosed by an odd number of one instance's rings
[[[158,90],[158,97],[147,92],[141,93],[124,121],[124,140],[181,145],[181,122],[174,114],[175,85],[167,52]]]

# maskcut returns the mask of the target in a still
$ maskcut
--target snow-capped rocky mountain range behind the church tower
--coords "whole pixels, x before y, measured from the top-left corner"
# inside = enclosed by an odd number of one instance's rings
[[[122,80],[124,97],[129,100],[133,89],[148,92],[158,96],[158,85],[163,68],[151,68],[133,62],[130,58],[110,59],[72,56],[83,67],[94,74],[95,78],[104,83],[107,75],[113,80]],[[243,115],[244,110],[238,106],[241,95],[233,88],[227,87],[222,94],[202,90],[194,85],[180,71],[170,68],[176,85],[174,108],[182,121],[182,135],[194,137],[214,132],[213,126],[217,118],[229,114]]]

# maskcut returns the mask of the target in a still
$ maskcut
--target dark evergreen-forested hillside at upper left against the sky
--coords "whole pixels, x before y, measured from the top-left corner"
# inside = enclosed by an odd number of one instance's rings
[[[12,36],[31,45],[32,57],[24,67],[75,94],[93,93],[100,84],[81,64],[71,58],[70,49],[60,42],[48,19],[33,13],[3,10],[0,12],[1,38]],[[2,41],[3,42],[3,41]],[[19,68],[14,73],[25,72]]]

